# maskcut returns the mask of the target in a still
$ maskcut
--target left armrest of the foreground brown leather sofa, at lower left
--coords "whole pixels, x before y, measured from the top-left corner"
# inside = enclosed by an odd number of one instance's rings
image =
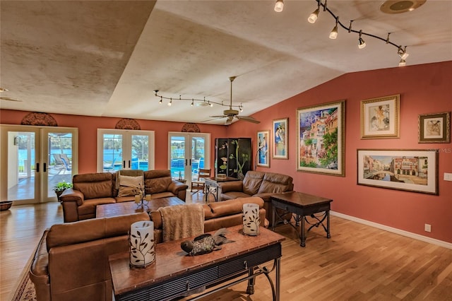
[[[41,237],[35,256],[28,274],[30,280],[35,284],[37,300],[50,300],[50,280],[49,280],[49,254],[47,253],[47,232],[45,230]]]

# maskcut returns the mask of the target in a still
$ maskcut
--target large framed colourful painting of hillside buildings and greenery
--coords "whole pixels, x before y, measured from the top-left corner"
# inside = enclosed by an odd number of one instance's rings
[[[297,171],[345,176],[345,100],[297,109]]]

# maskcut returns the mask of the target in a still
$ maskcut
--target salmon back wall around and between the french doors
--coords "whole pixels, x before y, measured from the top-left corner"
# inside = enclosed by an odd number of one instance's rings
[[[20,124],[30,112],[0,110],[2,124]],[[78,128],[78,173],[96,172],[97,162],[97,129],[114,129],[121,118],[88,117],[78,115],[51,114],[58,126]],[[183,122],[160,122],[135,119],[142,130],[155,131],[155,169],[168,168],[168,132],[182,131]],[[226,137],[226,126],[198,124],[201,133],[210,133],[210,140]],[[213,170],[214,143],[210,149],[210,165]],[[213,174],[213,173],[212,173]]]

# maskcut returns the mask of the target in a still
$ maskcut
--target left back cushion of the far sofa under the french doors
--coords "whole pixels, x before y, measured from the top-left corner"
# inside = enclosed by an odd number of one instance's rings
[[[109,172],[74,175],[73,189],[81,191],[85,199],[112,197],[113,177],[114,175]]]

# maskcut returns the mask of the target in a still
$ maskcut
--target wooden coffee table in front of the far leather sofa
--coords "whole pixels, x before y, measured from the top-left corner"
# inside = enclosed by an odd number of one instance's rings
[[[151,199],[148,206],[138,208],[134,201],[125,201],[122,203],[106,203],[98,205],[96,208],[96,218],[109,218],[112,216],[126,216],[131,213],[156,211],[160,207],[184,205],[185,202],[177,196],[168,198]]]

